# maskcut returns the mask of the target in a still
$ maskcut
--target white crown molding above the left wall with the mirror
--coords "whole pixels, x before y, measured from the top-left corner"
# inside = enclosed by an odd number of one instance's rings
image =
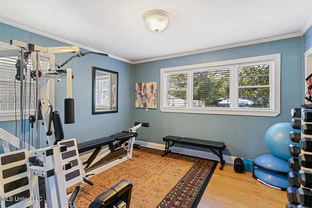
[[[13,22],[13,21],[10,21],[10,20],[7,20],[7,19],[0,18],[0,22],[8,24],[8,25],[11,25],[11,26],[14,26],[14,27],[18,27],[18,28],[23,29],[23,30],[27,30],[27,31],[32,32],[32,33],[36,33],[36,34],[41,35],[41,36],[45,36],[47,38],[52,38],[52,39],[55,39],[55,40],[59,40],[61,42],[67,43],[67,44],[77,45],[77,46],[79,46],[79,48],[83,48],[83,49],[86,49],[86,50],[89,50],[89,51],[93,51],[93,52],[97,52],[97,53],[104,53],[104,54],[106,54],[106,52],[99,51],[99,50],[96,50],[94,48],[90,48],[88,46],[81,45],[81,44],[78,44],[76,42],[73,42],[73,41],[70,41],[70,40],[67,40],[67,39],[59,38],[59,37],[53,36],[51,34],[47,34],[47,33],[44,33],[42,31],[39,31],[39,30],[35,30],[33,28],[21,25],[19,23],[16,23],[16,22]],[[132,61],[126,60],[124,58],[116,57],[116,56],[113,56],[113,55],[110,55],[110,54],[109,54],[109,57],[112,57],[112,58],[115,58],[115,59],[118,59],[118,60],[130,63],[130,64],[133,64]]]

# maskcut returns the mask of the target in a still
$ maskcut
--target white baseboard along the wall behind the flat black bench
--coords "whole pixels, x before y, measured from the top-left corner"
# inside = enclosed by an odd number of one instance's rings
[[[153,142],[145,142],[145,141],[140,141],[140,140],[136,140],[135,143],[138,145],[141,145],[142,147],[153,148],[156,150],[165,150],[165,145],[163,145],[163,144],[157,144],[157,143],[153,143]],[[176,153],[180,153],[180,154],[192,155],[195,157],[201,157],[201,158],[205,158],[205,159],[220,161],[219,157],[216,156],[212,152],[191,150],[191,149],[180,148],[180,147],[171,147],[170,150],[172,152],[176,152]],[[223,154],[223,159],[225,160],[226,163],[234,164],[235,158],[236,157]]]

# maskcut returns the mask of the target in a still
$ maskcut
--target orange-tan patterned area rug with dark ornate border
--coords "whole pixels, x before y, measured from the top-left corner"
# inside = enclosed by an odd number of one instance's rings
[[[176,153],[161,157],[162,153],[134,150],[132,159],[91,177],[94,186],[81,185],[75,204],[87,208],[98,194],[127,179],[133,184],[131,208],[196,208],[217,162]]]

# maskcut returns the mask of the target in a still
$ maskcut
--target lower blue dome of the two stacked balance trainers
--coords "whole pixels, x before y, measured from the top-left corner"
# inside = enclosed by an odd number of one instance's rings
[[[253,177],[264,182],[266,185],[271,185],[275,189],[286,190],[290,187],[287,175],[270,172],[261,168],[254,169]]]

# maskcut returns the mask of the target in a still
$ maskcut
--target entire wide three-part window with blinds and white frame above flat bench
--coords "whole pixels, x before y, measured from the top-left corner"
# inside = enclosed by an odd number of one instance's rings
[[[163,112],[276,116],[280,54],[161,69]]]

